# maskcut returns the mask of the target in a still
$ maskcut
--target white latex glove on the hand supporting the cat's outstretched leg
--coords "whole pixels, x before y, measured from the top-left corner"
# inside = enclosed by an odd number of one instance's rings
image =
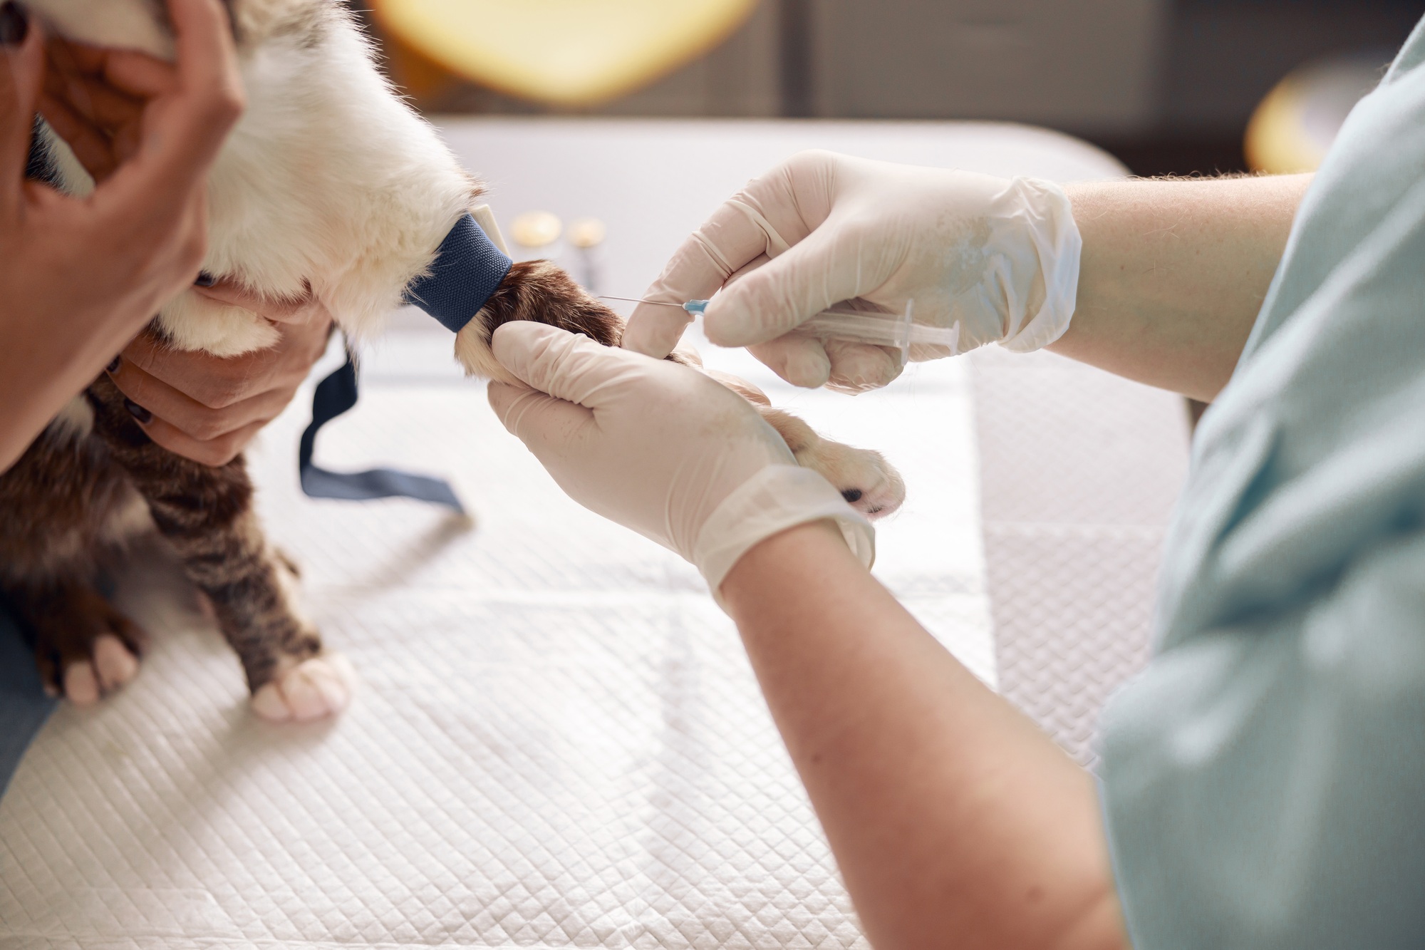
[[[492,347],[523,384],[490,384],[504,428],[570,498],[693,562],[715,598],[757,542],[822,518],[871,566],[871,523],[707,375],[524,321]]]

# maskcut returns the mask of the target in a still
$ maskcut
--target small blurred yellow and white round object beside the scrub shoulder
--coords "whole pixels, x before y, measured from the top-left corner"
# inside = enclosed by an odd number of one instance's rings
[[[1379,83],[1384,61],[1388,54],[1338,56],[1288,73],[1247,124],[1247,165],[1270,174],[1315,171],[1351,108]]]

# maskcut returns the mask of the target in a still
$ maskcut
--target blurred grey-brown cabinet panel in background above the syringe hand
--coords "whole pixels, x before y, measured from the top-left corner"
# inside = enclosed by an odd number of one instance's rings
[[[1143,128],[1166,0],[791,0],[805,4],[811,114]]]

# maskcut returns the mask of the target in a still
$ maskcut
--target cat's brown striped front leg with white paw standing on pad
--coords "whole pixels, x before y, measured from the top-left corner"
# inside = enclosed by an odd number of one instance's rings
[[[242,456],[212,468],[158,446],[107,377],[90,387],[90,399],[95,429],[237,650],[254,710],[286,720],[343,709],[351,669],[341,656],[322,652],[316,629],[298,612],[295,572],[258,523]]]

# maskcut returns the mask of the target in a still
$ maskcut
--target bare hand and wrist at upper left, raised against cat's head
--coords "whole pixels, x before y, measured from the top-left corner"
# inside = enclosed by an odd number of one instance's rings
[[[140,106],[137,123],[90,138],[110,173],[87,197],[26,180],[44,90],[38,26],[9,7],[0,57],[0,387],[9,466],[114,352],[198,272],[207,242],[207,173],[244,100],[227,14],[217,0],[170,0],[178,61],[104,53],[93,66],[117,91],[90,118]],[[103,158],[103,154],[100,154]]]

